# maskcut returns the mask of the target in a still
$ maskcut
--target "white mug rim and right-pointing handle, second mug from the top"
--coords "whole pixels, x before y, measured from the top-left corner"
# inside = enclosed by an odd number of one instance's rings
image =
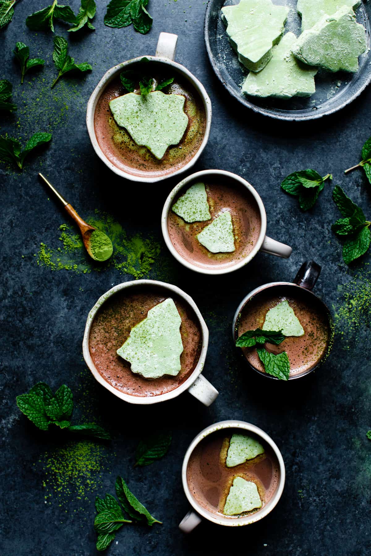
[[[253,195],[258,205],[261,224],[260,224],[260,233],[259,233],[258,241],[256,241],[253,250],[250,251],[250,253],[246,257],[243,257],[243,259],[239,260],[233,265],[224,266],[224,267],[222,266],[218,267],[217,265],[215,265],[212,268],[210,268],[210,267],[193,264],[192,262],[184,259],[184,257],[182,257],[179,254],[179,252],[175,249],[170,239],[169,229],[167,226],[167,218],[169,216],[169,211],[171,211],[172,204],[174,203],[174,199],[178,195],[181,189],[183,188],[186,189],[191,185],[191,182],[193,181],[210,180],[212,179],[212,176],[217,176],[219,178],[220,176],[225,176],[229,180],[236,181],[239,184],[245,186],[246,189],[251,193],[251,195]],[[161,230],[162,230],[162,235],[164,236],[165,243],[169,251],[171,252],[171,254],[175,257],[175,259],[181,262],[181,264],[186,266],[188,269],[195,270],[196,272],[200,272],[201,274],[226,274],[227,272],[233,272],[234,270],[238,270],[242,266],[248,264],[248,262],[250,262],[251,259],[255,257],[258,251],[263,251],[264,253],[269,253],[270,255],[283,257],[284,259],[288,259],[288,257],[291,255],[292,252],[292,248],[289,247],[288,245],[273,240],[270,237],[265,235],[266,213],[265,213],[263,201],[261,200],[258,192],[254,189],[254,187],[248,181],[244,180],[244,178],[234,173],[227,172],[225,170],[202,170],[201,172],[196,172],[191,174],[190,176],[187,176],[186,178],[184,178],[184,180],[178,183],[178,185],[176,185],[174,189],[169,193],[169,196],[165,201],[164,209],[162,209]]]

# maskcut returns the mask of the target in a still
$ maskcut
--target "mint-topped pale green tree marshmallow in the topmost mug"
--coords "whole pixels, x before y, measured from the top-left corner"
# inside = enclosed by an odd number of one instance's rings
[[[110,102],[113,118],[125,127],[137,145],[144,145],[159,160],[167,147],[177,145],[188,125],[185,97],[152,91],[148,95],[127,93]]]

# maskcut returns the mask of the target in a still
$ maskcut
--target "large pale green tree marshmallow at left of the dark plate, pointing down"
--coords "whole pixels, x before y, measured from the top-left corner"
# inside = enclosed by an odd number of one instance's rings
[[[241,0],[221,8],[227,35],[238,59],[251,71],[260,71],[271,58],[271,48],[284,30],[289,8],[270,0]]]

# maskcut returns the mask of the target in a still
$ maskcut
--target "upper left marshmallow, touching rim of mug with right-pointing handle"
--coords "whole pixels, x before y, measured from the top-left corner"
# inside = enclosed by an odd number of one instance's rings
[[[176,203],[172,205],[171,210],[186,222],[205,222],[210,220],[211,216],[205,183],[200,182],[191,185],[184,195],[179,197]]]

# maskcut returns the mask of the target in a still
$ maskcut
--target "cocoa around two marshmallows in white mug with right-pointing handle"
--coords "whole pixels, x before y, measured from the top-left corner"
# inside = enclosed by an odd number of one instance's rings
[[[215,175],[204,183],[211,220],[188,224],[170,209],[167,218],[170,240],[183,259],[196,266],[212,269],[235,265],[249,255],[258,241],[261,227],[258,203],[245,186],[226,176]],[[191,185],[182,188],[173,205]],[[197,234],[225,210],[229,210],[232,217],[235,251],[211,253],[197,240]]]

